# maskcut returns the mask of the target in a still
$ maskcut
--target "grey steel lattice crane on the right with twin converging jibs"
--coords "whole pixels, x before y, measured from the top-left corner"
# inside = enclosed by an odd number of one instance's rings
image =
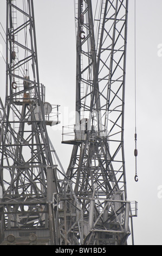
[[[124,107],[127,0],[76,0],[76,123],[67,177],[80,215],[66,217],[66,243],[126,245]],[[66,202],[67,204],[67,202]]]

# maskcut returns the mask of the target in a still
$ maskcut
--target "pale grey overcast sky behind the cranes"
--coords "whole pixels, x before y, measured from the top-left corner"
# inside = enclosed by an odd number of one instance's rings
[[[5,2],[0,0],[0,22],[4,28]],[[138,202],[138,217],[133,220],[135,245],[162,245],[162,193],[159,193],[162,187],[162,51],[158,48],[162,48],[162,1],[136,0],[136,3],[139,181],[134,181],[134,0],[129,0],[125,101],[127,194],[128,200]],[[62,124],[56,129],[50,127],[48,132],[66,170],[72,147],[61,144],[61,127],[66,125],[67,112],[75,110],[74,1],[34,0],[34,7],[40,81],[46,86],[46,101],[61,105],[63,116]],[[3,33],[2,27],[0,32]],[[2,36],[0,44],[5,56]],[[5,63],[2,57],[0,70],[0,96],[4,102]],[[69,118],[73,122],[73,115]]]

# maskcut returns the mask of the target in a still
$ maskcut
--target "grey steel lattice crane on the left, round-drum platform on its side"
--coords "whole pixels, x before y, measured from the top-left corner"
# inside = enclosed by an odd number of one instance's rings
[[[33,0],[7,0],[5,105],[1,101],[2,244],[59,244],[58,173],[47,125],[58,106],[39,81]],[[56,115],[56,119],[50,117]]]

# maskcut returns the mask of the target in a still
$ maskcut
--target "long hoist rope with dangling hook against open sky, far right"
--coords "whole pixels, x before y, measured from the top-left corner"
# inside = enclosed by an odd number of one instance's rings
[[[134,95],[135,95],[135,150],[134,150],[134,156],[135,156],[135,177],[134,180],[138,181],[138,175],[137,175],[137,156],[138,156],[138,150],[137,150],[137,70],[136,70],[136,0],[134,0]]]

